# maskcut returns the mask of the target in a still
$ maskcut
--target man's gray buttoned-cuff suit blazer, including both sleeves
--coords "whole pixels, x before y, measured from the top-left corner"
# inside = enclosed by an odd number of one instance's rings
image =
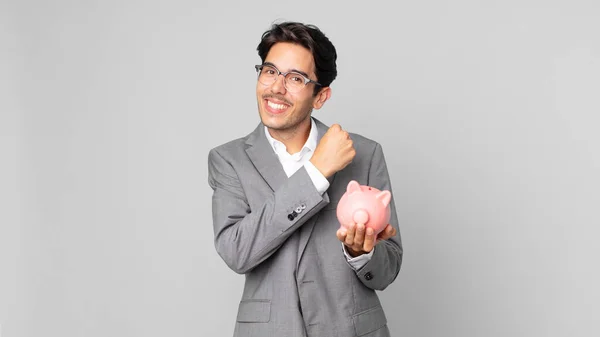
[[[320,140],[328,127],[315,122]],[[262,123],[210,151],[215,247],[246,279],[235,337],[390,336],[375,291],[396,279],[402,263],[393,197],[390,224],[398,234],[377,244],[359,271],[336,237],[336,207],[350,180],[392,191],[381,146],[350,136],[356,156],[323,195],[304,167],[286,176]]]

